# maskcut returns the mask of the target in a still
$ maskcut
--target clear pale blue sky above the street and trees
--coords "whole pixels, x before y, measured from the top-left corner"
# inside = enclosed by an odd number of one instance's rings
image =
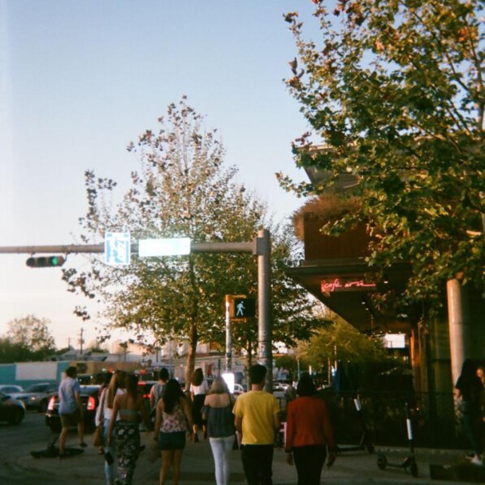
[[[283,82],[296,56],[282,18],[292,11],[318,34],[310,0],[0,0],[0,246],[78,242],[84,171],[126,188],[137,168],[127,144],[183,94],[218,129],[237,180],[277,220],[292,214],[302,200],[274,176],[306,179],[290,143],[307,126]],[[92,341],[102,322],[73,314],[86,299],[67,292],[59,268],[28,268],[28,256],[0,254],[0,335],[33,314],[58,347],[76,345],[81,327]],[[88,268],[86,258],[67,266]]]

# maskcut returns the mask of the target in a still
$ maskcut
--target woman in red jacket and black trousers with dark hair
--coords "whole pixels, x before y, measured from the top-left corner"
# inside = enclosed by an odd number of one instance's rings
[[[295,461],[298,485],[319,485],[326,458],[327,466],[335,461],[333,430],[325,401],[315,397],[315,384],[304,374],[297,386],[298,398],[286,409],[286,461]]]

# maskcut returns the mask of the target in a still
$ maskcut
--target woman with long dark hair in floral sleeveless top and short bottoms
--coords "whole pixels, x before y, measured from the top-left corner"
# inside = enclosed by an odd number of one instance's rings
[[[185,433],[192,425],[192,412],[188,399],[182,393],[176,379],[170,379],[156,408],[154,440],[162,451],[160,485],[165,484],[172,466],[172,483],[180,479],[180,460],[185,448]]]

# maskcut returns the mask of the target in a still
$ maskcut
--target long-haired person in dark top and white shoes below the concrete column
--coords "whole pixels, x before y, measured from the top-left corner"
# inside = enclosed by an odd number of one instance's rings
[[[478,365],[471,359],[465,359],[461,368],[460,377],[455,384],[455,397],[459,399],[458,408],[461,411],[461,423],[474,456],[471,463],[483,465],[481,448],[481,394],[483,384],[477,376]]]

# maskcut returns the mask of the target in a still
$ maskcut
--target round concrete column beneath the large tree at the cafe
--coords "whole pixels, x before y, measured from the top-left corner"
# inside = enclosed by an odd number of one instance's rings
[[[451,373],[453,385],[466,358],[473,357],[473,340],[468,310],[467,288],[457,279],[446,283],[448,298],[448,326],[450,329]]]

